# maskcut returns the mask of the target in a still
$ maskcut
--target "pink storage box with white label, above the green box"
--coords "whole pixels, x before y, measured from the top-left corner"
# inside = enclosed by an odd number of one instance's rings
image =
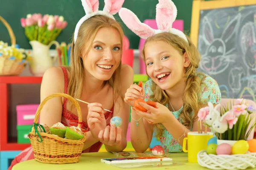
[[[17,105],[17,125],[33,124],[39,104]]]

